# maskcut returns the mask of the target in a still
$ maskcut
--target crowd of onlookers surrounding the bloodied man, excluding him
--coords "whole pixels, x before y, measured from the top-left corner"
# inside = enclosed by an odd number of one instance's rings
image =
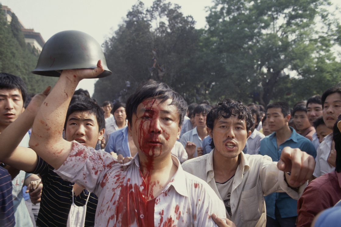
[[[149,83],[140,89],[160,90],[160,86]],[[161,100],[161,93],[151,94],[144,100]],[[100,195],[94,193],[98,189],[90,192],[85,189],[86,185],[65,179],[56,173],[58,168],[54,163],[37,155],[33,147],[33,150],[29,148],[35,116],[32,113],[36,114],[39,106],[34,106],[34,102],[38,103],[36,96],[29,106],[25,106],[26,99],[23,81],[1,73],[0,225],[66,226],[70,207],[75,204],[86,205],[83,226],[93,226],[99,212],[96,209]],[[64,118],[63,137],[109,153],[120,162],[129,162],[142,149],[134,133],[139,136],[154,133],[143,131],[142,123],[133,121],[138,118],[138,105],[144,100],[136,101],[136,107],[131,104],[134,100],[128,100],[127,106],[105,101],[100,107],[87,91],[75,91]],[[166,101],[162,99],[160,103],[163,102]],[[178,168],[182,164],[184,171],[204,180],[223,201],[226,217],[233,223],[221,224],[215,219],[219,226],[340,225],[336,218],[341,214],[338,204],[341,199],[341,87],[331,87],[322,96],[312,96],[293,107],[286,102],[272,102],[264,107],[255,103],[246,106],[232,99],[214,105],[204,100],[184,108],[187,112],[183,119],[177,108],[178,123],[183,122],[175,133],[178,136],[170,153],[179,160]],[[20,115],[25,117],[19,118]],[[162,120],[168,122],[172,117]],[[134,131],[134,127],[141,131]],[[37,132],[32,133],[35,136]],[[295,182],[294,177],[300,182]],[[142,216],[139,214],[143,219]]]

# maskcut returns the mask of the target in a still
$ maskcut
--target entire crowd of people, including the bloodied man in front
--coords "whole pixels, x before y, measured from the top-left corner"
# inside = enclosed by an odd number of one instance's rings
[[[75,88],[103,70],[63,70],[28,105],[24,82],[0,73],[1,226],[308,227],[341,214],[341,87],[292,108],[188,105],[147,81],[99,106]]]

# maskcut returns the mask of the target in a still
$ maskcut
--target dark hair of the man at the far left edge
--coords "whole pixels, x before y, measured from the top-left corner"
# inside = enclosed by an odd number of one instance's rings
[[[18,89],[21,92],[23,103],[25,106],[27,99],[26,85],[20,77],[14,76],[9,73],[0,72],[0,89]]]

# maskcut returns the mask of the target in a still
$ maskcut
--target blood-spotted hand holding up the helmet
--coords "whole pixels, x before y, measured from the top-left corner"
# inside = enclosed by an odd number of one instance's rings
[[[95,78],[104,71],[102,60],[97,62],[97,67],[94,69],[83,68],[83,69],[64,69],[60,76],[68,75],[71,78],[76,78],[78,81],[82,79]]]

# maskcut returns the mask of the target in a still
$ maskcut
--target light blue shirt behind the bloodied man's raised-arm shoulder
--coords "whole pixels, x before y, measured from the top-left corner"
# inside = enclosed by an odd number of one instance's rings
[[[117,155],[121,154],[124,157],[131,157],[129,142],[128,142],[128,127],[124,127],[109,135],[109,140],[104,148],[104,151],[110,153],[114,151]]]

